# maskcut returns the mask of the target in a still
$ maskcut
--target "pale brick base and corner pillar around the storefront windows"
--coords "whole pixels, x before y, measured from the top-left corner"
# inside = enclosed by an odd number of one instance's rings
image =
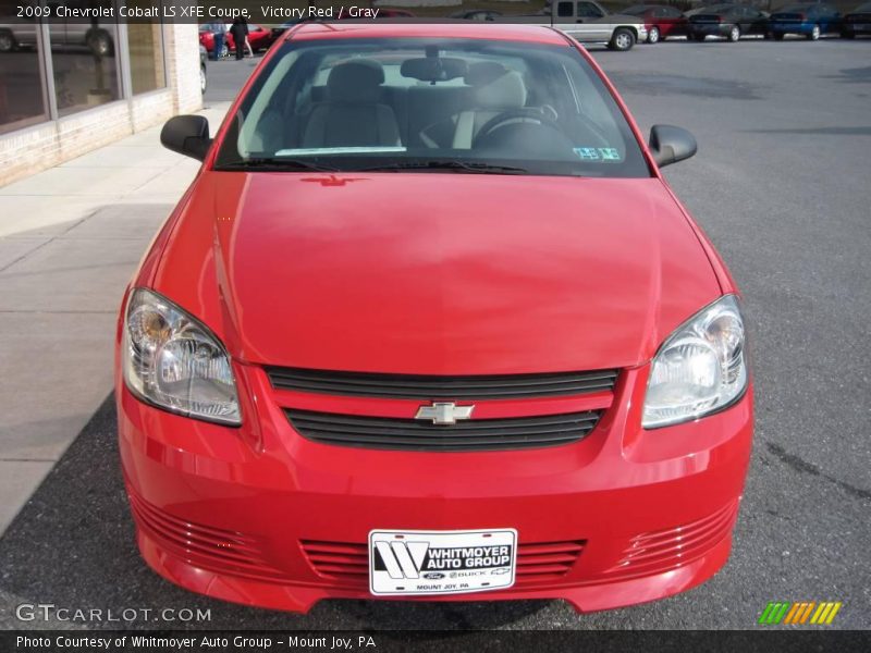
[[[203,107],[197,25],[164,25],[167,88],[0,135],[0,186]]]

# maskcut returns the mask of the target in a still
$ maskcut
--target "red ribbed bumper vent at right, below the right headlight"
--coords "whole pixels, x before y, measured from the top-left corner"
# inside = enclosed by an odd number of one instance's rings
[[[683,567],[729,534],[737,509],[737,502],[731,503],[698,521],[636,535],[621,560],[602,576],[610,580],[625,580]]]

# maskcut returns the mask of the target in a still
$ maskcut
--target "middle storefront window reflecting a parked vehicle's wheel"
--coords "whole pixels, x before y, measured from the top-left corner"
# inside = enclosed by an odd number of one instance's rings
[[[49,34],[59,115],[121,97],[115,25],[97,21],[51,23]]]

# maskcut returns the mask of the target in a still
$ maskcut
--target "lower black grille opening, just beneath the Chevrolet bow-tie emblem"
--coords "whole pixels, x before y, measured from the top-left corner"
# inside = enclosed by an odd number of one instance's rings
[[[577,442],[599,421],[601,410],[511,419],[477,419],[437,426],[416,419],[335,415],[284,409],[291,426],[308,440],[380,449],[469,452],[554,446]]]

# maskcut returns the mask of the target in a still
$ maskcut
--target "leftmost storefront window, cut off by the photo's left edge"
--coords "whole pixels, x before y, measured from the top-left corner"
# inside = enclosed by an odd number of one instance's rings
[[[0,134],[48,120],[39,25],[33,20],[5,21],[0,24]]]

